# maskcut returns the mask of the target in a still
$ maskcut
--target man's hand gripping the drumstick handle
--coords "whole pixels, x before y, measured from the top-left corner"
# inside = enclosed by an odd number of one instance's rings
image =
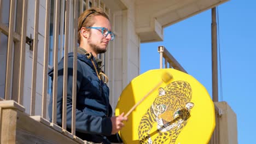
[[[111,117],[110,119],[112,122],[112,135],[118,133],[118,131],[124,127],[123,121],[127,121],[127,117],[124,117],[124,112],[121,115]]]

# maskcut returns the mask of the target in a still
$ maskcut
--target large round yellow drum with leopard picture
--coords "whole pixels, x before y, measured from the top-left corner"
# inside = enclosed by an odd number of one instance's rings
[[[173,78],[161,83],[164,73]],[[149,70],[133,79],[121,93],[115,114],[127,113],[152,89],[124,122],[120,131],[124,143],[210,141],[215,127],[213,101],[200,82],[175,69]]]

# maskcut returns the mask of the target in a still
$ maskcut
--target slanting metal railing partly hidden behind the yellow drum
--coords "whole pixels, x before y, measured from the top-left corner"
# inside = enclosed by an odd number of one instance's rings
[[[179,71],[182,71],[183,73],[187,73],[187,71],[185,71],[185,69],[181,66],[181,64],[179,64],[176,59],[171,55],[170,52],[168,52],[168,50],[165,49],[164,46],[159,46],[158,47],[158,52],[160,55],[160,69],[163,68],[163,59],[164,59],[164,68],[173,68],[173,69],[177,69]],[[169,66],[169,67],[168,67]],[[219,142],[219,117],[222,115],[222,110],[218,109],[218,107],[216,105],[214,105],[215,107],[215,111],[216,111],[216,127],[213,131],[211,140],[210,140],[210,144],[216,144],[216,143],[220,143]]]

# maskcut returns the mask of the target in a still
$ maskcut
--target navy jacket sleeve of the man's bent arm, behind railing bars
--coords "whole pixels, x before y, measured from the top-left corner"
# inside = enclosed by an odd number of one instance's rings
[[[79,60],[78,60],[79,61]],[[62,123],[62,93],[63,93],[63,62],[59,64],[58,71],[58,90],[57,90],[57,123]],[[77,65],[77,92],[82,86],[83,69],[82,65]],[[72,87],[73,87],[73,57],[68,58],[68,77],[67,77],[67,128],[72,125]],[[94,115],[87,115],[81,110],[75,111],[76,131],[89,134],[111,135],[112,122],[110,117],[102,118]]]

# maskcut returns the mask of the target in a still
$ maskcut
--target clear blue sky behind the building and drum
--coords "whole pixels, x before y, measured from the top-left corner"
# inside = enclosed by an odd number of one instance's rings
[[[238,143],[256,143],[255,13],[253,0],[231,0],[218,7],[219,101],[226,101],[236,113]],[[157,49],[163,45],[212,95],[211,19],[211,10],[204,11],[164,28],[164,41],[141,44],[140,73],[159,68]]]

